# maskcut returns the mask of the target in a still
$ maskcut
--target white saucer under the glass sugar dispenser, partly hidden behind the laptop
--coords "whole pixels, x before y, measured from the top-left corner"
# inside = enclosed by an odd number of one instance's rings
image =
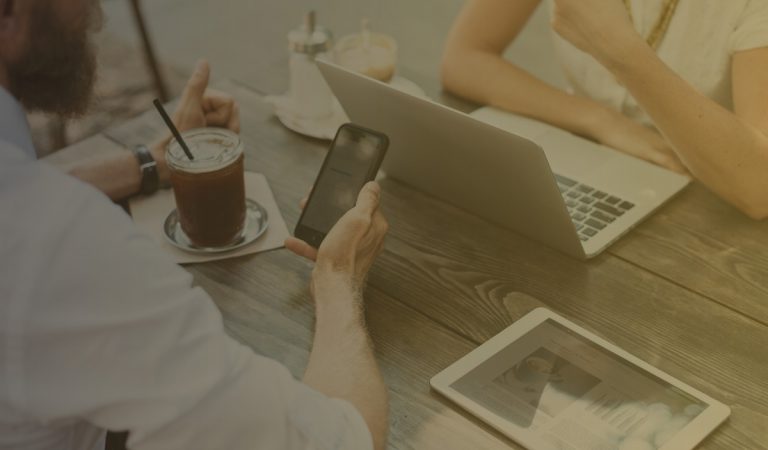
[[[389,84],[395,89],[399,89],[407,94],[417,97],[427,97],[424,89],[407,78],[395,76]],[[297,107],[294,104],[293,99],[287,94],[270,95],[265,97],[264,101],[272,105],[275,110],[275,115],[280,120],[280,123],[285,125],[286,128],[317,139],[332,140],[336,136],[336,131],[339,127],[349,122],[349,117],[344,113],[344,110],[336,99],[333,100],[331,114],[313,119],[297,115],[295,112]]]

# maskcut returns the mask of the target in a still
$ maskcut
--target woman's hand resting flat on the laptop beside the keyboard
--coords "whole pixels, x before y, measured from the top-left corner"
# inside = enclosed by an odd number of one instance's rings
[[[626,116],[606,110],[596,120],[590,137],[623,153],[644,159],[658,166],[688,175],[670,143],[658,131],[647,128]]]

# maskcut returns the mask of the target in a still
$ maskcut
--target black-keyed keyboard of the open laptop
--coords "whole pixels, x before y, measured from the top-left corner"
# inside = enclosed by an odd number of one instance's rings
[[[555,179],[582,241],[595,237],[608,224],[635,207],[631,202],[568,177],[555,174]]]

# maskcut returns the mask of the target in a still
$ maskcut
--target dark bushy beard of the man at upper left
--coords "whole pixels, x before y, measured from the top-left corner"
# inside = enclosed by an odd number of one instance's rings
[[[96,82],[96,51],[90,31],[100,26],[98,3],[78,30],[67,29],[49,2],[36,2],[30,44],[7,66],[10,91],[30,111],[74,117],[85,113]]]

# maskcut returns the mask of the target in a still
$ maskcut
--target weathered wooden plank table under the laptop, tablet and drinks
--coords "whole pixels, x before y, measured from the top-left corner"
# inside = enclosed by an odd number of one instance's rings
[[[292,228],[327,144],[284,129],[258,91],[219,88],[240,102],[247,169],[268,177]],[[147,142],[160,124],[153,114],[54,160]],[[390,387],[390,448],[518,448],[431,392],[429,379],[538,306],[730,405],[702,448],[768,448],[768,224],[694,184],[582,262],[396,181],[382,187],[391,231],[366,300]],[[312,341],[310,264],[278,250],[188,270],[232,336],[301,376]]]

